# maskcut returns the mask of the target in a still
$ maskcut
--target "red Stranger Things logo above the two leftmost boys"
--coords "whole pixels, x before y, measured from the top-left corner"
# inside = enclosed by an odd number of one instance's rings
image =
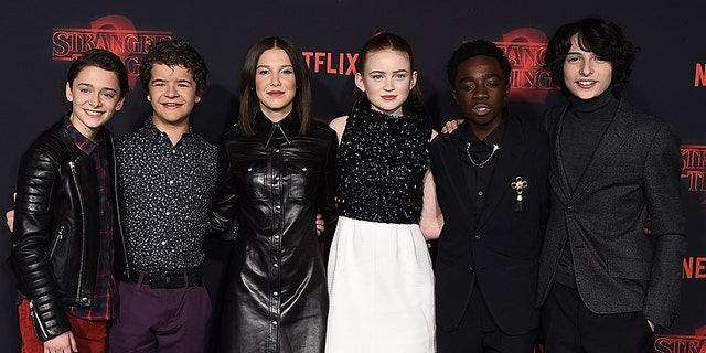
[[[128,18],[106,15],[92,21],[87,29],[55,28],[52,34],[52,58],[73,61],[92,49],[108,50],[122,60],[130,87],[135,87],[142,55],[154,43],[171,38],[171,32],[138,31]]]

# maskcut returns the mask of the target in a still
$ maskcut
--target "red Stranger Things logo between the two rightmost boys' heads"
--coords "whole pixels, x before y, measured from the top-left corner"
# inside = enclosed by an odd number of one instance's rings
[[[509,100],[545,103],[547,93],[558,89],[552,84],[549,72],[542,67],[547,41],[544,32],[521,28],[503,34],[502,41],[495,42],[512,65]]]

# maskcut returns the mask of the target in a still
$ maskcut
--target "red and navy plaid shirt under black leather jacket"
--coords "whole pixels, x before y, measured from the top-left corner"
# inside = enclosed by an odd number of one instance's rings
[[[110,175],[108,174],[108,149],[103,130],[96,136],[96,141],[90,141],[71,124],[68,118],[64,120],[66,129],[76,146],[86,156],[90,157],[96,168],[98,181],[100,215],[100,252],[98,253],[98,270],[96,288],[93,295],[93,307],[69,307],[68,312],[85,320],[113,319],[113,293],[116,290],[115,276],[113,275],[113,197],[110,191]]]

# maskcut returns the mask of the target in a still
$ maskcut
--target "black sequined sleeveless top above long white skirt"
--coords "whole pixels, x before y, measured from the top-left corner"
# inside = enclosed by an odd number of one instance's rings
[[[431,129],[424,109],[405,116],[373,110],[359,101],[339,147],[338,205],[341,215],[372,222],[416,224]]]

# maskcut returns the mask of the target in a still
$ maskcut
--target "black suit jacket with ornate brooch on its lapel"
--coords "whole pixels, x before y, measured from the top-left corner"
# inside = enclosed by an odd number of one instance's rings
[[[505,119],[478,217],[458,152],[461,128],[431,142],[431,171],[445,218],[436,264],[437,322],[442,330],[459,324],[477,285],[506,333],[526,333],[539,324],[534,301],[548,213],[548,140],[528,121],[511,115]],[[517,176],[527,181],[522,213],[515,212],[517,194],[511,188]]]

